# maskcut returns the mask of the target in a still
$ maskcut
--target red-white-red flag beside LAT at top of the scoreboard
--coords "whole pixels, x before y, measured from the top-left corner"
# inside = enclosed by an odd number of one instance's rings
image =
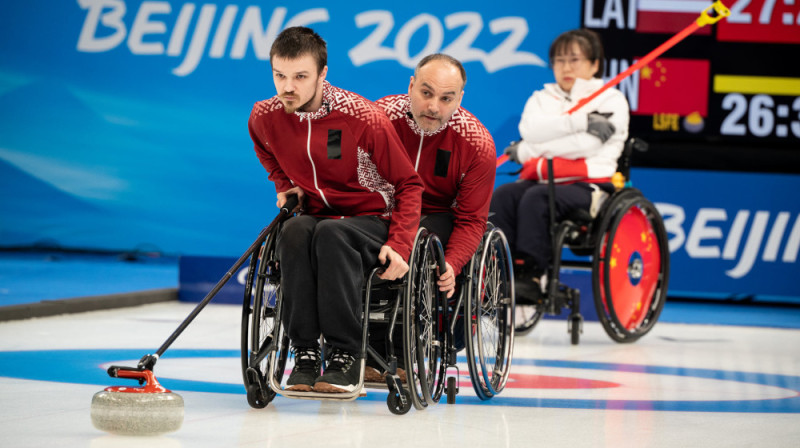
[[[636,31],[640,33],[677,33],[697,20],[711,5],[708,0],[638,0]],[[704,26],[695,34],[710,34]]]

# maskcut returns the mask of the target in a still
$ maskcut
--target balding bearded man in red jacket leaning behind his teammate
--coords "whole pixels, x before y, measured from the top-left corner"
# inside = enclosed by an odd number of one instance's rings
[[[425,184],[420,225],[436,233],[445,246],[447,270],[440,273],[438,285],[448,298],[455,291],[456,275],[486,231],[497,156],[489,131],[461,107],[466,82],[461,62],[432,54],[417,64],[408,94],[377,101]],[[382,332],[375,329],[371,336],[373,347],[381,352]],[[376,367],[367,369],[370,381],[380,380],[380,373],[372,370]]]

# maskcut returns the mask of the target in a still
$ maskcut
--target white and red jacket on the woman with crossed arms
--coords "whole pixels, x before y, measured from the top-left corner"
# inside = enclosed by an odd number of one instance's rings
[[[556,83],[545,84],[533,93],[519,122],[520,178],[546,181],[547,158],[553,158],[556,182],[610,182],[628,138],[630,111],[625,95],[608,89],[571,115],[566,114],[602,86],[603,81],[597,78],[577,79],[569,94]],[[605,143],[586,132],[590,112],[612,114],[609,121],[616,131]]]

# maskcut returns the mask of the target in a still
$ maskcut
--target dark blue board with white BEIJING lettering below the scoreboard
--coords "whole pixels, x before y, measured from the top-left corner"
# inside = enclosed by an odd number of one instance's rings
[[[664,217],[671,295],[800,297],[800,176],[639,168],[631,177]]]

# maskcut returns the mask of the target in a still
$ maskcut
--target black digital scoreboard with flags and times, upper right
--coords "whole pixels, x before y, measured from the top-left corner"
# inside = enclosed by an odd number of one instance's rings
[[[584,0],[582,23],[603,38],[604,78],[611,79],[712,3]],[[728,17],[620,83],[631,106],[631,135],[656,148],[707,147],[737,169],[749,170],[748,159],[770,154],[774,166],[766,170],[800,172],[800,0],[722,3]]]

